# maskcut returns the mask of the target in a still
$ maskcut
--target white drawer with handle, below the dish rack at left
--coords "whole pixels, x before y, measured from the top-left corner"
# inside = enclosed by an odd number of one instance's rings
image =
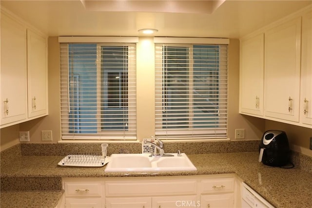
[[[101,197],[103,188],[103,182],[101,181],[64,182],[66,197]]]

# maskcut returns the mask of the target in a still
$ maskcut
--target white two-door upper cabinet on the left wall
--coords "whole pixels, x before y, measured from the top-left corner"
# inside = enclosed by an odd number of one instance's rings
[[[0,128],[47,115],[47,39],[1,8]]]

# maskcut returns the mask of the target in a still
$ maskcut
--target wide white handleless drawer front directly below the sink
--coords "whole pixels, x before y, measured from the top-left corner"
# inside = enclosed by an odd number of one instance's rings
[[[196,194],[196,180],[107,181],[106,196],[157,196]]]

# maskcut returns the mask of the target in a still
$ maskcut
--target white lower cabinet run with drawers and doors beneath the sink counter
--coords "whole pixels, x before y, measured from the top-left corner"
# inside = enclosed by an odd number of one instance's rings
[[[64,207],[234,208],[237,184],[234,174],[64,178]]]

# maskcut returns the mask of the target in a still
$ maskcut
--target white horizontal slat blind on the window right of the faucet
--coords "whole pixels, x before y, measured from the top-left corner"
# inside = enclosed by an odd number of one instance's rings
[[[156,136],[227,138],[227,45],[156,44]]]

